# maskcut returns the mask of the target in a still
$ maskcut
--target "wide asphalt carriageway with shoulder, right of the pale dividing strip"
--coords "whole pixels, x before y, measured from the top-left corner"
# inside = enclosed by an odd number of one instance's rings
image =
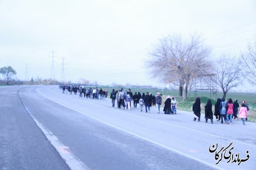
[[[141,113],[139,109],[120,110],[111,101],[62,94],[57,86],[27,86],[20,97],[37,125],[54,136],[52,142],[69,165],[87,169],[254,169],[256,136],[253,123],[242,126],[205,124],[191,121],[192,115]],[[243,128],[243,129],[242,129]],[[246,130],[244,130],[246,128]],[[236,131],[236,133],[230,133]],[[226,133],[228,132],[228,133]],[[49,135],[50,134],[50,135]],[[48,138],[49,139],[49,138]],[[49,139],[51,141],[51,139]],[[209,145],[227,146],[233,153],[250,159],[218,165]],[[66,155],[66,156],[65,156]],[[68,156],[73,158],[69,160]]]

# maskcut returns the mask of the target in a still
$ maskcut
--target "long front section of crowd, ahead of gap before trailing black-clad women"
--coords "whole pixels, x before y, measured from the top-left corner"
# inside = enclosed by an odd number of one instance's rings
[[[98,99],[98,100],[105,100],[105,98],[108,97],[108,90],[98,90],[97,87],[79,87],[79,86],[68,86],[68,85],[60,85],[60,89],[62,89],[62,93],[74,93],[75,95],[77,92],[79,92],[79,96],[82,98],[87,99]],[[151,107],[156,107],[158,110],[158,114],[160,113],[160,108],[162,106],[162,94],[159,92],[155,95],[153,95],[150,92],[146,92],[146,94],[143,92],[142,94],[140,92],[133,92],[131,89],[128,89],[127,91],[124,91],[123,88],[116,90],[113,89],[110,93],[110,99],[112,102],[112,107],[115,107],[117,105],[117,108],[119,109],[131,109],[131,106],[133,104],[134,108],[137,108],[139,106],[140,111],[143,111],[143,108],[145,107],[145,112],[150,113]],[[166,101],[164,102],[164,108],[163,112],[164,114],[177,114],[177,101],[173,97],[170,99],[170,96],[167,96]]]

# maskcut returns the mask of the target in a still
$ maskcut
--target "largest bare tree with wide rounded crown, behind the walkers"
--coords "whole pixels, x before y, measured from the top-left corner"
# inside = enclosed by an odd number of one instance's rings
[[[190,82],[210,70],[209,55],[210,48],[203,44],[201,36],[194,34],[183,38],[174,34],[153,46],[146,67],[153,78],[164,83],[178,83],[179,94],[186,100]]]

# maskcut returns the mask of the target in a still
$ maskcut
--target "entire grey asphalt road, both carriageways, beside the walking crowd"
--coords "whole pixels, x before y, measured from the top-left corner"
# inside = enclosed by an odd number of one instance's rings
[[[0,87],[0,99],[1,169],[255,169],[254,123],[123,110],[58,86]],[[238,165],[223,156],[216,164],[210,145],[220,151],[230,142],[225,156],[249,159]]]

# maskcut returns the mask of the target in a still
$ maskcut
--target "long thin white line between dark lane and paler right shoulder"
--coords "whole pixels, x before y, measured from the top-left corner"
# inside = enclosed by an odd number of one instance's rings
[[[100,119],[98,119],[98,118],[96,118],[96,117],[93,117],[93,116],[91,116],[91,115],[88,115],[88,114],[86,114],[86,113],[80,112],[79,110],[76,110],[76,109],[71,108],[71,107],[69,107],[69,106],[63,105],[63,104],[61,104],[61,103],[59,103],[59,102],[57,102],[57,101],[55,101],[55,100],[53,100],[53,99],[48,98],[46,95],[40,93],[40,92],[38,91],[38,88],[37,88],[36,90],[37,90],[37,92],[38,92],[40,95],[44,96],[45,98],[47,98],[47,99],[49,99],[49,100],[51,100],[51,101],[53,101],[53,102],[55,102],[55,103],[57,103],[57,104],[59,104],[59,105],[61,105],[61,106],[67,107],[67,108],[69,108],[69,109],[71,109],[71,110],[74,110],[74,111],[76,111],[76,112],[78,112],[78,113],[81,113],[81,114],[86,115],[86,116],[88,116],[88,117],[91,117],[91,118],[93,118],[93,119],[95,119],[95,120],[98,120],[99,122],[101,122],[101,123],[103,123],[103,124],[105,124],[105,125],[111,126],[111,127],[113,127],[113,128],[116,128],[116,129],[121,130],[121,131],[123,131],[123,132],[129,133],[129,134],[131,134],[131,135],[134,135],[134,136],[139,137],[139,138],[141,138],[141,139],[144,139],[144,140],[146,140],[146,141],[152,142],[152,143],[154,143],[154,144],[159,145],[160,147],[163,147],[163,148],[168,149],[168,150],[170,150],[170,151],[173,151],[173,152],[176,152],[176,153],[178,153],[178,154],[184,155],[184,156],[186,156],[186,157],[188,157],[188,158],[194,159],[194,160],[196,160],[196,161],[198,161],[198,162],[201,162],[201,163],[204,163],[204,164],[206,164],[206,165],[208,165],[208,166],[211,166],[211,167],[214,167],[214,168],[217,168],[217,169],[224,169],[224,168],[218,167],[218,166],[216,166],[216,165],[214,165],[214,164],[208,163],[208,162],[206,162],[206,161],[204,161],[204,160],[198,159],[198,158],[196,158],[196,157],[194,157],[194,156],[190,156],[190,155],[188,155],[188,154],[186,154],[186,153],[183,153],[183,152],[181,152],[181,151],[178,151],[178,150],[176,150],[176,149],[174,149],[174,148],[167,147],[166,145],[163,145],[163,144],[161,144],[161,143],[159,143],[159,142],[156,142],[156,141],[153,141],[153,140],[151,140],[151,139],[145,138],[145,137],[143,137],[143,136],[137,135],[137,134],[135,134],[135,133],[133,133],[133,132],[124,130],[124,129],[119,128],[119,127],[117,127],[117,126],[115,126],[115,125],[106,123],[106,122],[104,122],[103,120],[100,120]],[[74,98],[72,98],[72,99],[74,99]],[[100,105],[98,105],[98,106],[100,106]],[[105,107],[105,106],[102,106],[102,107]],[[106,107],[106,108],[108,108],[108,107]],[[132,115],[134,115],[134,114],[132,114]],[[141,116],[141,117],[143,117],[143,116]],[[154,119],[153,119],[153,120],[154,120]]]

